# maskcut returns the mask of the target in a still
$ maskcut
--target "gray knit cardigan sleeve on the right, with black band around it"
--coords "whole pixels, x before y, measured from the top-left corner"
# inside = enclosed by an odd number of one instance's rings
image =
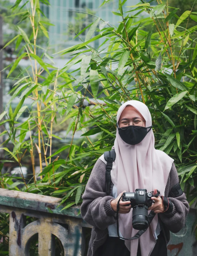
[[[185,219],[189,212],[189,204],[186,200],[185,193],[176,198],[169,197],[169,192],[173,186],[179,182],[178,174],[175,164],[172,164],[167,186],[165,189],[165,196],[171,199],[173,204],[173,211],[170,213],[158,213],[161,221],[168,227],[172,233],[179,232],[185,225]]]

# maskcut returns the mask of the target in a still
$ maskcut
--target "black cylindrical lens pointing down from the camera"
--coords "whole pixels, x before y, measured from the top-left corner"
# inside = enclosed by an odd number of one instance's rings
[[[132,225],[137,230],[143,230],[148,227],[148,210],[146,206],[134,206]]]

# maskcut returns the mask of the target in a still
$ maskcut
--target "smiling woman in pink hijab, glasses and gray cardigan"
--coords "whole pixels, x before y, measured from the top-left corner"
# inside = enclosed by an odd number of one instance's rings
[[[151,125],[148,107],[140,101],[125,102],[117,112],[110,195],[106,194],[106,161],[102,155],[82,196],[81,215],[93,226],[88,256],[167,256],[169,231],[176,233],[184,226],[189,205],[184,193],[172,193],[179,186],[174,160],[154,148]],[[148,209],[156,215],[140,238],[124,241],[116,232],[117,202],[125,191],[135,192],[137,188],[154,194],[160,191],[160,196],[151,198],[155,203]],[[128,203],[120,201],[119,235],[123,238],[138,232],[132,226],[133,208],[126,206]]]

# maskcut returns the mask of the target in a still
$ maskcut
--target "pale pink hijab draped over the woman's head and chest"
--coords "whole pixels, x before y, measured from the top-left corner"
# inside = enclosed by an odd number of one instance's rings
[[[146,121],[146,127],[152,125],[151,114],[148,107],[141,101],[130,100],[125,102],[117,112],[117,122],[124,108],[131,105],[140,112]],[[153,131],[137,145],[125,143],[116,129],[116,139],[112,149],[115,149],[116,160],[111,170],[111,180],[117,188],[117,194],[121,192],[135,192],[136,188],[145,188],[147,192],[158,189],[160,195],[164,195],[168,176],[174,160],[161,150],[155,149],[155,138]],[[104,155],[100,159],[104,160]],[[128,214],[120,214],[119,229],[124,238],[135,236],[138,230],[132,227],[132,211]],[[149,211],[150,212],[150,211]],[[151,222],[151,225],[140,237],[141,255],[149,256],[156,244],[154,232],[158,223],[157,214]],[[125,241],[125,245],[130,251],[131,256],[137,255],[138,239]]]

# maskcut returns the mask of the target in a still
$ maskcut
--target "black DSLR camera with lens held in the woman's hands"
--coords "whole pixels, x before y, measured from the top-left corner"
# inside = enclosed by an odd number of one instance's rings
[[[160,194],[157,191],[156,195],[152,192],[147,193],[146,189],[136,189],[135,192],[125,192],[122,195],[122,201],[130,201],[133,208],[133,221],[132,225],[134,229],[143,230],[148,227],[148,207],[152,205],[154,200],[151,200],[152,196],[158,197]],[[129,206],[129,204],[127,205]]]

